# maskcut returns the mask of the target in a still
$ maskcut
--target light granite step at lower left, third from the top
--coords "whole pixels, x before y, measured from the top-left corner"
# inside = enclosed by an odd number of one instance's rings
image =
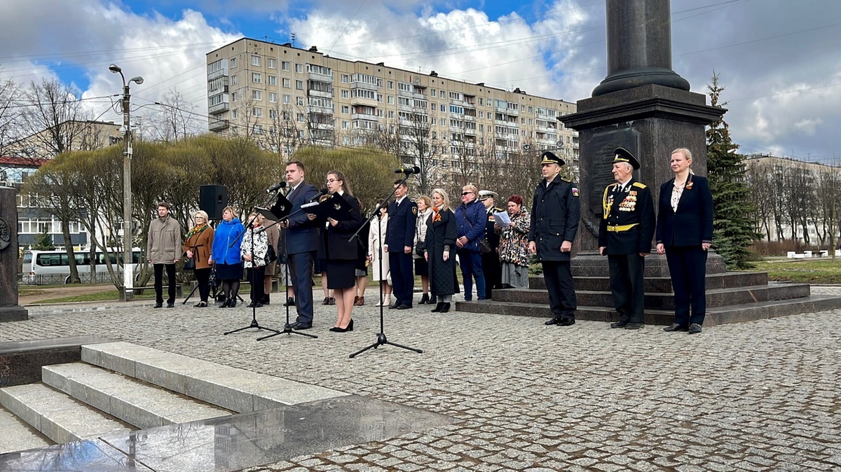
[[[56,443],[128,433],[133,429],[43,383],[0,389],[0,405]]]

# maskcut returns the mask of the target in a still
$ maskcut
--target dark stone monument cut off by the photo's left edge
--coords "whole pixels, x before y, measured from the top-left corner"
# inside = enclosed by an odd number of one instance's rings
[[[29,319],[18,304],[18,190],[0,186],[0,322]]]

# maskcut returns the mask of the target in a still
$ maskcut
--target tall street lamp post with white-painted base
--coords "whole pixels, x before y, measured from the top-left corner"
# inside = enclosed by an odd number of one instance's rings
[[[123,293],[120,300],[127,302],[134,295],[135,274],[134,258],[131,248],[131,110],[129,85],[135,82],[137,85],[143,83],[143,77],[135,76],[130,81],[125,81],[123,70],[116,64],[108,66],[108,71],[119,74],[123,79],[123,130],[125,150],[123,151]]]

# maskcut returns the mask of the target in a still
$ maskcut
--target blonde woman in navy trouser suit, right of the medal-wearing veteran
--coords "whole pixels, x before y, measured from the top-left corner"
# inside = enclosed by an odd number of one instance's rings
[[[666,254],[674,291],[674,322],[664,331],[701,333],[706,314],[706,254],[712,245],[712,192],[690,170],[689,149],[674,149],[674,179],[660,186],[657,253]],[[690,314],[691,307],[691,314]]]

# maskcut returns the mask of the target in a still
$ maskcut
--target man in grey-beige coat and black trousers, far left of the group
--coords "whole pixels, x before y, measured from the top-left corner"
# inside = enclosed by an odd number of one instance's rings
[[[155,307],[163,307],[163,270],[167,268],[169,298],[167,308],[175,307],[175,264],[181,259],[181,225],[169,216],[169,203],[158,203],[158,218],[149,223],[146,260],[155,268]]]

